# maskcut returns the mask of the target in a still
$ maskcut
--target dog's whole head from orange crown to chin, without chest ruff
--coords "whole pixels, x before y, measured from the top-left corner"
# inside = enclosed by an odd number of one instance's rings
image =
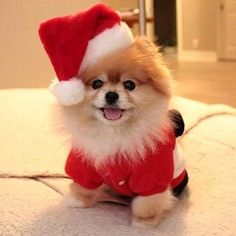
[[[87,121],[107,126],[155,119],[166,109],[170,96],[168,71],[157,48],[143,38],[103,58],[80,77],[86,85],[80,105],[83,115]]]

